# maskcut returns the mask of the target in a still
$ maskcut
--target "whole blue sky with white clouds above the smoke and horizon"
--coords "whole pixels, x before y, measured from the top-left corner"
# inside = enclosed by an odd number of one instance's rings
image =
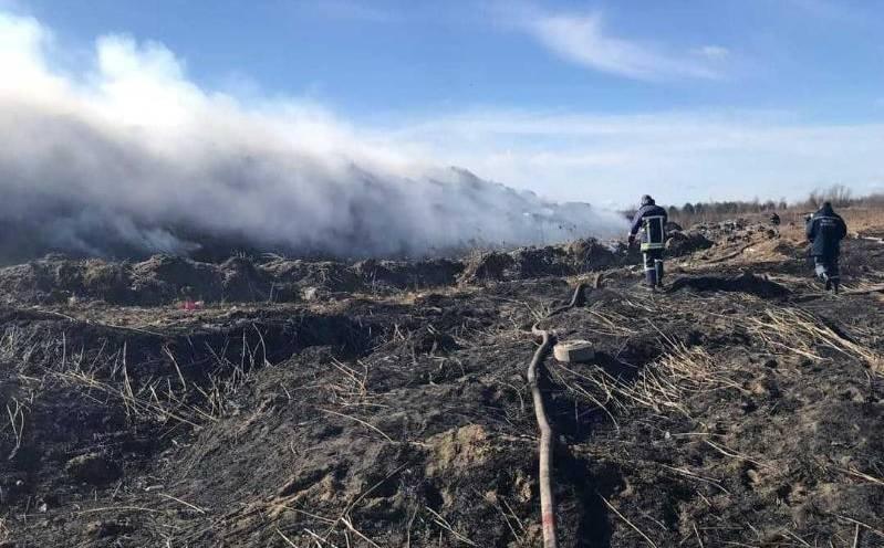
[[[884,2],[0,0],[53,62],[162,44],[243,103],[559,200],[884,189]],[[143,46],[143,45],[142,45]],[[85,61],[83,61],[86,63]]]

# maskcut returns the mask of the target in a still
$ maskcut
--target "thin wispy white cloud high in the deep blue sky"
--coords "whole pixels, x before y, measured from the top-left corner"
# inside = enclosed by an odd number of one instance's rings
[[[715,67],[689,52],[678,54],[613,35],[600,13],[550,13],[521,6],[501,17],[562,59],[592,70],[647,81],[720,77]],[[715,50],[721,52],[724,49]]]

